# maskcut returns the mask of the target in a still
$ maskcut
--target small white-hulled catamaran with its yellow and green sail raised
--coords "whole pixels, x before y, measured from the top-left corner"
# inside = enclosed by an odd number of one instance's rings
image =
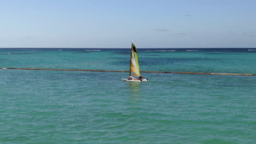
[[[139,76],[138,79],[133,78],[132,76]],[[142,82],[148,81],[148,79],[143,79],[143,77],[139,74],[139,63],[138,63],[138,55],[135,45],[132,41],[131,46],[131,61],[130,61],[130,76],[128,79],[122,79],[123,81],[135,81],[135,82]]]

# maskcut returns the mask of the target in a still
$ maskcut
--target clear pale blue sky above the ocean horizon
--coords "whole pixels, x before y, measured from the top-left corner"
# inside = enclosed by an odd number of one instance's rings
[[[0,47],[256,47],[254,0],[0,0]]]

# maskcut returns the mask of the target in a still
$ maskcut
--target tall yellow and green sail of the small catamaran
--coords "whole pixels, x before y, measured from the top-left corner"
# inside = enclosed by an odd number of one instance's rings
[[[130,75],[139,76],[138,55],[135,45],[131,47]]]

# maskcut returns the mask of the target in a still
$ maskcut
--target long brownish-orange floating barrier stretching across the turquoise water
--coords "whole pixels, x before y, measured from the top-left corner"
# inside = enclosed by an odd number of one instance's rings
[[[104,71],[104,72],[124,72],[128,70],[88,70],[88,69],[35,69],[35,68],[0,68],[0,69],[23,69],[23,70],[66,70],[66,71]],[[172,73],[172,74],[200,74],[200,75],[247,75],[255,76],[256,74],[229,74],[229,73],[193,73],[193,72],[175,72],[175,71],[141,71],[141,73]]]

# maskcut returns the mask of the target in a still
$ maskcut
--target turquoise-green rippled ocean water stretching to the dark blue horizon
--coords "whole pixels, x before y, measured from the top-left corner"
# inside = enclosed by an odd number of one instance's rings
[[[256,74],[256,49],[139,49],[141,71]],[[130,49],[0,49],[0,68],[129,70]],[[0,143],[256,142],[256,76],[0,69]]]

